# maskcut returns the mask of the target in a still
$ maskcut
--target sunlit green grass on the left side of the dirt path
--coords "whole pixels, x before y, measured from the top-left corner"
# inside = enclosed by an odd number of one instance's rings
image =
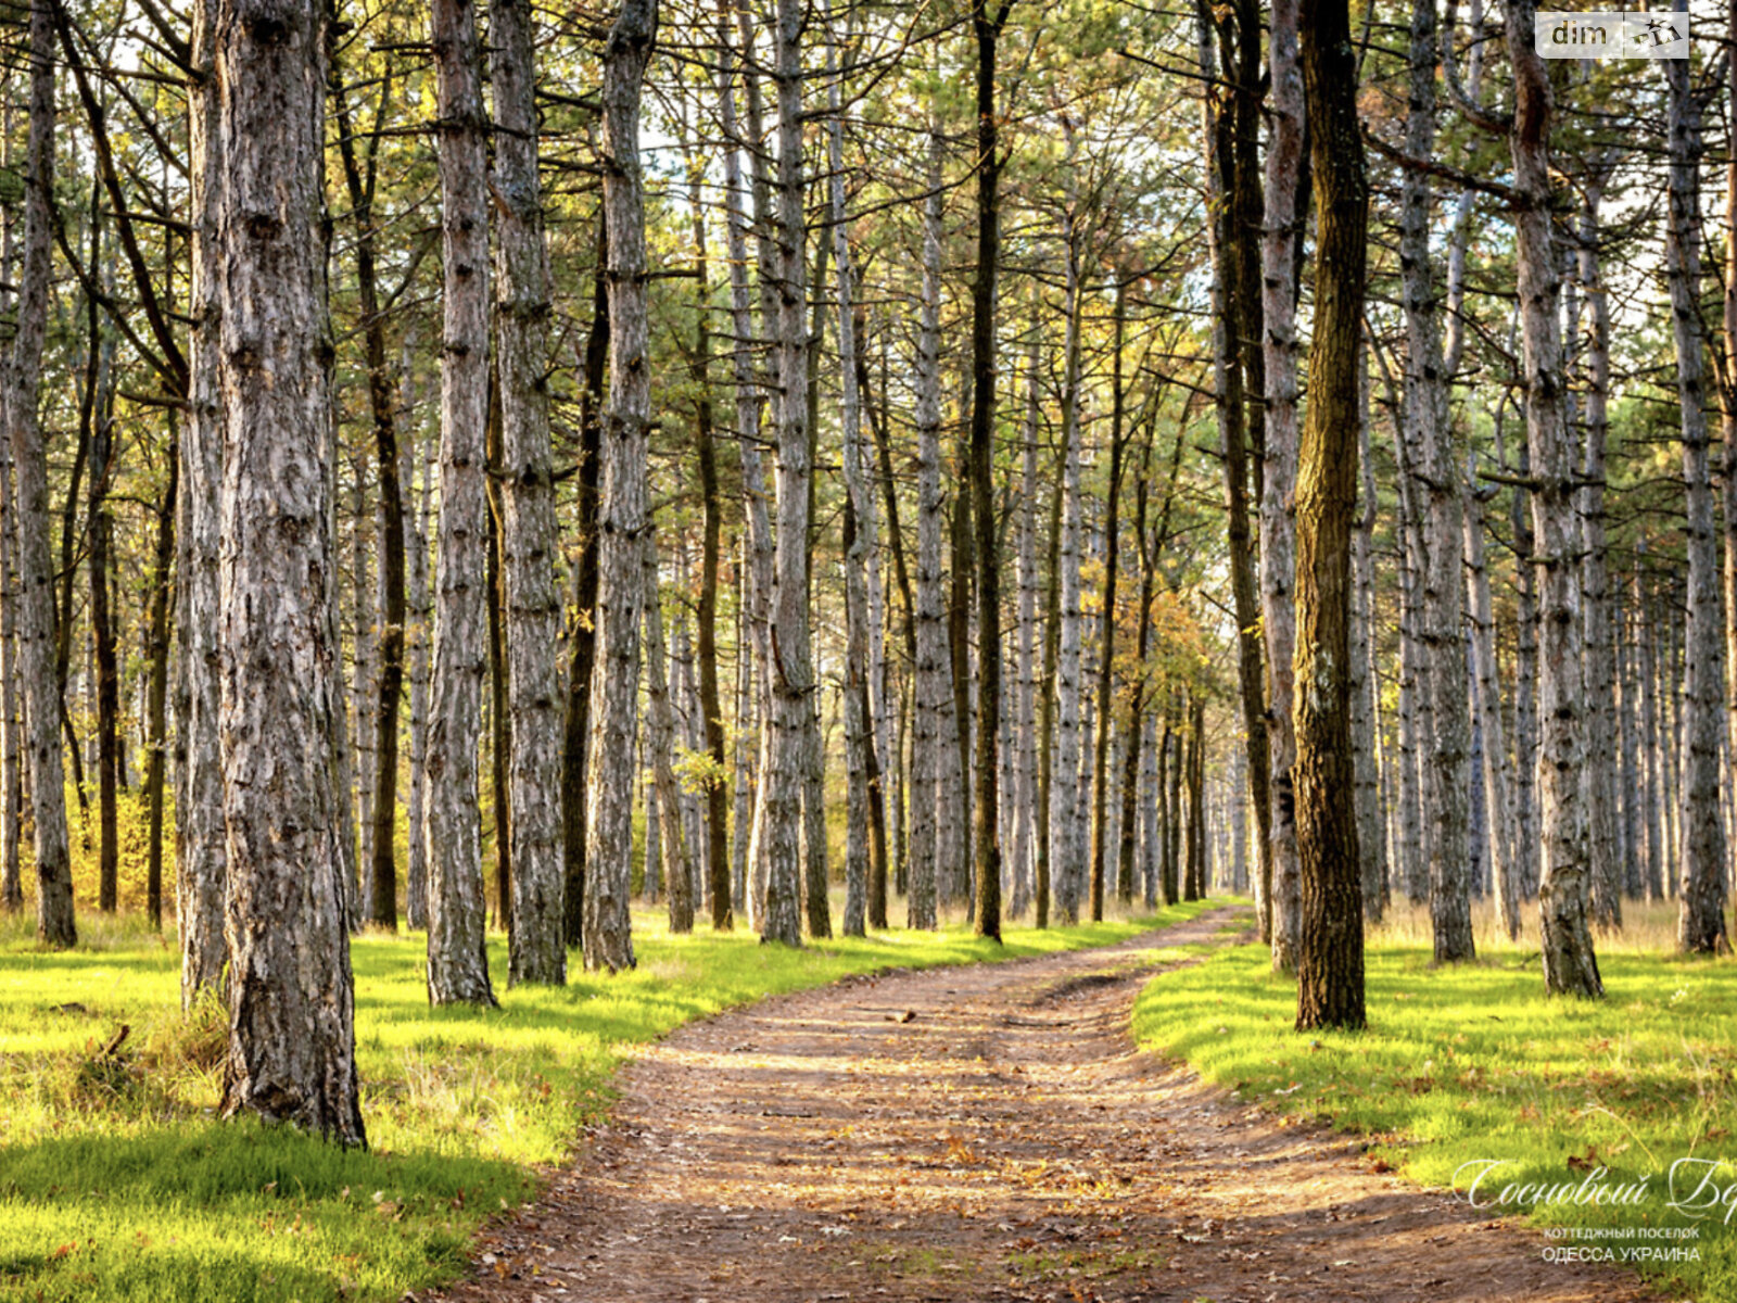
[[[1192,917],[1178,907],[1159,923]],[[634,919],[639,968],[429,1009],[424,942],[353,943],[372,1148],[221,1122],[222,1011],[179,1015],[177,956],[139,921],[80,917],[80,949],[0,923],[0,1300],[396,1300],[462,1270],[483,1218],[530,1199],[610,1105],[610,1077],[690,1018],[849,973],[1101,945],[1152,919],[964,924],[802,950]],[[505,980],[505,947],[490,947]],[[78,1008],[57,1008],[78,1006]],[[122,1025],[118,1055],[102,1046]]]

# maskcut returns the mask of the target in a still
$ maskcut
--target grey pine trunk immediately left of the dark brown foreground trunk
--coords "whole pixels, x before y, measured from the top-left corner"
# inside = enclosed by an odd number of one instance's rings
[[[1291,770],[1291,653],[1296,645],[1296,523],[1291,497],[1298,457],[1298,212],[1304,149],[1303,69],[1298,64],[1298,0],[1271,10],[1273,116],[1266,151],[1266,224],[1261,235],[1261,321],[1266,330],[1266,464],[1261,493],[1261,631],[1266,634],[1268,747],[1273,860],[1273,971],[1296,966],[1298,832]]]

